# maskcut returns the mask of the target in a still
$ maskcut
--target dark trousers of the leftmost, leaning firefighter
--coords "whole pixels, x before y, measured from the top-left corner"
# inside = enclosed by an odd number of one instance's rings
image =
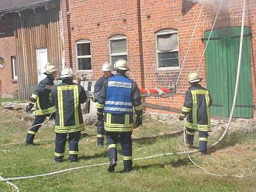
[[[47,116],[49,116],[50,114],[47,115],[38,115],[35,117],[35,120],[31,126],[31,128],[28,131],[28,134],[26,136],[26,142],[27,143],[33,143],[36,132],[38,132],[38,129],[41,127],[41,124],[44,123],[44,120]],[[55,118],[55,113],[51,114],[50,118]]]

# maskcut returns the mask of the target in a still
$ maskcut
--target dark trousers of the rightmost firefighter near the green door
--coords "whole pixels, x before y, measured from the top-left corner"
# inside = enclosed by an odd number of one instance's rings
[[[195,129],[190,129],[186,127],[186,143],[193,145],[194,144],[194,134]],[[205,152],[207,150],[207,141],[208,141],[208,132],[198,131],[199,134],[199,150]]]

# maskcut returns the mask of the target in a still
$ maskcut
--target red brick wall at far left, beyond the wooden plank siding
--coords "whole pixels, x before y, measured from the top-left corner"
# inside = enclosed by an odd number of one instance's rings
[[[0,20],[0,56],[5,60],[5,67],[0,70],[0,96],[12,97],[17,91],[17,81],[13,81],[11,56],[15,56],[15,39],[12,18]]]

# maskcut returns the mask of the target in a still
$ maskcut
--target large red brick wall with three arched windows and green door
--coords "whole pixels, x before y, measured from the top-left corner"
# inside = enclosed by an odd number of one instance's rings
[[[255,1],[248,1],[246,6],[246,26],[252,29],[252,82],[253,103],[256,103],[255,89]],[[65,0],[61,4],[64,17],[70,19],[70,27],[63,26],[65,44],[65,63],[67,66],[76,66],[75,42],[86,38],[91,41],[92,68],[90,72],[80,71],[86,77],[97,79],[102,76],[100,68],[103,62],[109,61],[108,38],[113,35],[127,36],[128,60],[132,68],[129,76],[136,80],[140,87],[166,87],[177,82],[178,70],[157,70],[155,33],[160,29],[177,29],[179,33],[179,63],[184,62],[177,92],[184,93],[188,88],[188,73],[198,68],[198,63],[204,52],[205,45],[201,42],[204,31],[211,30],[218,11],[216,0],[214,5],[205,4],[195,35],[191,42],[188,58],[184,57],[188,51],[189,40],[196,25],[196,20],[201,6],[195,4],[191,10],[182,15],[182,0]],[[188,6],[191,6],[189,3]],[[230,0],[223,4],[214,29],[228,26],[241,26],[241,13],[243,1]],[[67,16],[67,12],[70,15]],[[68,31],[69,30],[69,31]],[[204,57],[199,68],[200,75],[204,77],[202,84],[205,86],[205,61]],[[181,108],[184,97],[175,95],[170,99],[147,98],[147,102]],[[256,114],[256,112],[254,112]]]

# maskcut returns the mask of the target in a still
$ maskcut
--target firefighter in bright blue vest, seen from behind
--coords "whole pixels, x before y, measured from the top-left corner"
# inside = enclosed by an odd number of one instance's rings
[[[133,109],[136,113],[136,125],[142,124],[141,96],[136,82],[126,76],[130,70],[125,60],[115,63],[116,75],[103,84],[98,95],[97,115],[104,120],[104,129],[108,141],[109,168],[114,172],[117,161],[116,144],[118,136],[122,147],[124,171],[132,171],[132,129]]]

